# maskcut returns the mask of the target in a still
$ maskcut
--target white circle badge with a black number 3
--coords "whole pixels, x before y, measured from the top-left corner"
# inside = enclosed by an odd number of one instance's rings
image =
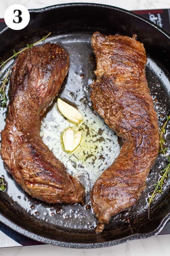
[[[29,22],[29,11],[23,5],[11,5],[5,11],[4,19],[9,28],[20,30]]]

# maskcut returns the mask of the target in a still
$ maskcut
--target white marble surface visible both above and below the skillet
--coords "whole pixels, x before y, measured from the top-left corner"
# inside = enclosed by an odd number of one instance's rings
[[[142,10],[142,9],[161,9],[170,8],[170,0],[106,0],[106,1],[57,1],[57,0],[0,0],[0,18],[4,17],[5,10],[12,4],[22,4],[27,9],[41,8],[49,5],[59,3],[71,2],[88,2],[88,3],[103,3],[108,5],[118,6],[128,10]],[[18,246],[19,244],[12,241],[2,232],[0,232],[0,240],[4,240],[5,246]],[[100,248],[100,249],[68,249],[62,247],[55,247],[52,245],[37,245],[29,247],[11,247],[0,248],[0,256],[27,256],[27,255],[70,255],[70,256],[154,256],[154,255],[169,255],[170,251],[170,235],[160,235],[144,240],[135,240],[126,242],[124,244]]]

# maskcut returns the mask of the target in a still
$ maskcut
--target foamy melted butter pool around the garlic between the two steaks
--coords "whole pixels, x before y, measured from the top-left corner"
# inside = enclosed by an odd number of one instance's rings
[[[54,155],[76,177],[86,192],[90,191],[96,179],[114,161],[120,152],[117,135],[103,119],[88,105],[78,106],[83,116],[80,124],[73,124],[59,112],[57,104],[42,120],[41,136]],[[73,152],[65,152],[62,134],[71,127],[74,132],[81,130],[80,145]]]

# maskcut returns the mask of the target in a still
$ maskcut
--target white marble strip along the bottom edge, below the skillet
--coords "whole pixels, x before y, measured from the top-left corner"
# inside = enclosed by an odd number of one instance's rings
[[[155,236],[99,249],[70,249],[53,245],[1,248],[1,256],[168,256],[170,235]]]

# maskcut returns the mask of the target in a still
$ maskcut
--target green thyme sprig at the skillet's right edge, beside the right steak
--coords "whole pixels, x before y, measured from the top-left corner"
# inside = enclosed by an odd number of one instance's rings
[[[165,168],[163,170],[161,170],[160,172],[160,178],[158,179],[158,181],[154,184],[155,185],[155,189],[152,193],[152,195],[150,197],[148,197],[148,219],[149,219],[149,215],[150,215],[150,204],[153,203],[156,199],[156,196],[158,194],[162,194],[162,189],[163,189],[163,185],[165,184],[165,181],[167,181],[169,179],[169,174],[170,174],[170,156],[168,156],[166,154],[167,148],[164,147],[165,141],[163,139],[164,134],[166,133],[166,126],[168,124],[170,120],[170,115],[167,117],[167,120],[165,121],[165,123],[163,124],[162,128],[161,128],[161,132],[160,132],[160,151],[159,153],[163,154],[167,160],[167,165],[165,166]]]

